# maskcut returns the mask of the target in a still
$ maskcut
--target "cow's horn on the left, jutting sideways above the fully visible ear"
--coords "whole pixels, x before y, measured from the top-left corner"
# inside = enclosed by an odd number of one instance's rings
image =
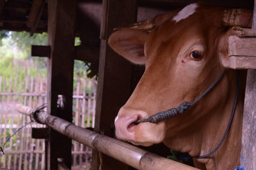
[[[157,15],[153,18],[148,18],[148,19],[142,20],[140,22],[135,22],[126,27],[115,28],[114,30],[124,30],[126,28],[136,28],[136,29],[146,30],[146,31],[153,30],[156,26],[159,26],[164,21],[168,20],[169,18],[173,17],[176,14],[177,14],[176,11],[166,12],[164,14]]]

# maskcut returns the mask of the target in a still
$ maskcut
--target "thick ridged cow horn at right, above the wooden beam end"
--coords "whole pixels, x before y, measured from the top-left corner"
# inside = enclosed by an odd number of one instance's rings
[[[252,11],[246,9],[229,9],[224,12],[225,26],[252,28]]]

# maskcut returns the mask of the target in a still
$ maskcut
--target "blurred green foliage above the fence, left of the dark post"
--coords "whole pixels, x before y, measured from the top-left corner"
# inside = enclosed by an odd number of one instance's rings
[[[46,59],[31,57],[31,45],[47,44],[46,33],[30,36],[27,32],[1,31],[0,37],[0,76],[46,76]]]

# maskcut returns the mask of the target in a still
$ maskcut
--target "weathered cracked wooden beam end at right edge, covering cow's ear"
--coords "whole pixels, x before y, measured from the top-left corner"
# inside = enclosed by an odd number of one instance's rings
[[[253,35],[252,31],[249,35]],[[228,38],[228,60],[232,69],[256,69],[256,37],[230,36]]]

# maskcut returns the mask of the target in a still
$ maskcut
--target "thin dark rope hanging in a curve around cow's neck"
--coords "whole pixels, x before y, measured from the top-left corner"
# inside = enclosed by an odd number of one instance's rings
[[[239,93],[239,84],[240,84],[240,70],[238,70],[238,75],[237,75],[237,83],[236,83],[236,97],[235,97],[235,100],[234,100],[234,105],[233,105],[233,108],[232,108],[232,112],[231,112],[231,116],[230,116],[230,119],[229,119],[229,122],[228,122],[228,126],[226,128],[226,131],[220,141],[220,143],[218,144],[218,146],[212,150],[212,152],[204,155],[204,156],[197,156],[195,158],[206,158],[207,156],[210,156],[211,154],[213,154],[214,152],[216,152],[216,150],[218,150],[218,148],[220,147],[220,145],[223,143],[224,139],[226,138],[227,134],[228,134],[228,130],[230,128],[230,125],[232,123],[232,120],[234,118],[234,113],[236,111],[236,103],[237,103],[237,99],[238,99],[238,93]]]

